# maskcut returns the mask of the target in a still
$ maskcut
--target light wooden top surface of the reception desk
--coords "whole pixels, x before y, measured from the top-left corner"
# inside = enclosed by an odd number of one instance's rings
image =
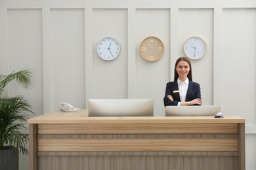
[[[167,123],[245,123],[240,116],[224,116],[214,118],[213,116],[135,116],[135,117],[88,117],[88,110],[78,112],[50,112],[28,120],[28,124],[167,124]]]

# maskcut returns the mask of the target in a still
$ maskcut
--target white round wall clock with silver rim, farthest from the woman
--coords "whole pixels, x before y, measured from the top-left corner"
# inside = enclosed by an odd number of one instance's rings
[[[105,37],[100,40],[97,45],[97,52],[100,58],[111,61],[119,56],[121,51],[121,46],[119,42],[113,37]]]

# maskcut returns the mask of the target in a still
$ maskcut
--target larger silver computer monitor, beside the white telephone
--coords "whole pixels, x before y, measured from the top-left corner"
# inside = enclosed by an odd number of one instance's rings
[[[88,116],[154,116],[153,99],[88,99]]]

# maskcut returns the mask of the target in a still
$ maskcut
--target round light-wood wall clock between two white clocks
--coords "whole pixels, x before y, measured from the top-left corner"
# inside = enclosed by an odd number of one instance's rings
[[[163,42],[158,37],[146,37],[140,43],[140,55],[148,61],[157,61],[163,56]]]

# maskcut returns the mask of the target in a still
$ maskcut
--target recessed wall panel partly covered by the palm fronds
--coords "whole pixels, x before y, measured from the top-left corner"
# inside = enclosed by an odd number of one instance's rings
[[[41,9],[8,10],[8,73],[27,68],[35,78],[29,90],[11,82],[9,95],[22,94],[37,115],[43,110],[42,14]]]

